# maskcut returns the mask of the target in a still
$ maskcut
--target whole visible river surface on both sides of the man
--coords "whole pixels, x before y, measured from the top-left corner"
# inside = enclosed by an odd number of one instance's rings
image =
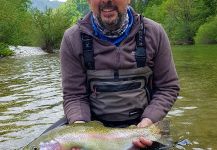
[[[167,115],[182,149],[217,150],[217,45],[173,51],[181,92]],[[57,54],[0,59],[0,150],[21,148],[63,116]],[[177,149],[177,148],[174,148]]]

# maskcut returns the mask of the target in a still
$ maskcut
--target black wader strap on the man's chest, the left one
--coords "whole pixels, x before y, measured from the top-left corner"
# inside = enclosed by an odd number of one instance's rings
[[[95,70],[93,39],[90,35],[81,33],[81,41],[84,55],[84,65],[87,70]]]

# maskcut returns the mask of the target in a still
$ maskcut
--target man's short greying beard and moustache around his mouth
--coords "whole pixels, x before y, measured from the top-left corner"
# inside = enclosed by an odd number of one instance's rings
[[[113,20],[112,22],[105,22],[102,20],[102,18],[100,17],[101,16],[101,11],[103,9],[114,9],[118,12],[118,16],[115,20]],[[114,30],[117,30],[119,29],[121,26],[122,26],[122,23],[126,17],[126,13],[121,13],[118,11],[118,8],[117,6],[114,6],[112,5],[112,2],[111,1],[108,1],[107,3],[102,3],[100,4],[99,6],[99,15],[96,16],[97,17],[97,20],[100,24],[101,27],[107,29],[107,30],[110,30],[110,31],[114,31]]]

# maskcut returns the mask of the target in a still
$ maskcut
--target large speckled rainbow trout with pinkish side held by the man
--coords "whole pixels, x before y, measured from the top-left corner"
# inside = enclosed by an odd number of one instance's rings
[[[169,144],[162,136],[159,124],[146,128],[110,128],[93,121],[55,128],[35,139],[24,150],[71,150],[73,147],[81,150],[134,150],[132,140],[141,136],[163,145]]]

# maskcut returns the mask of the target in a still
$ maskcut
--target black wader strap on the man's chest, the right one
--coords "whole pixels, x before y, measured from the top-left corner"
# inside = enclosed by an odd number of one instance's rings
[[[136,34],[136,54],[135,59],[137,67],[144,67],[146,64],[146,45],[145,45],[145,28],[143,24],[143,18],[140,15],[140,28]]]

